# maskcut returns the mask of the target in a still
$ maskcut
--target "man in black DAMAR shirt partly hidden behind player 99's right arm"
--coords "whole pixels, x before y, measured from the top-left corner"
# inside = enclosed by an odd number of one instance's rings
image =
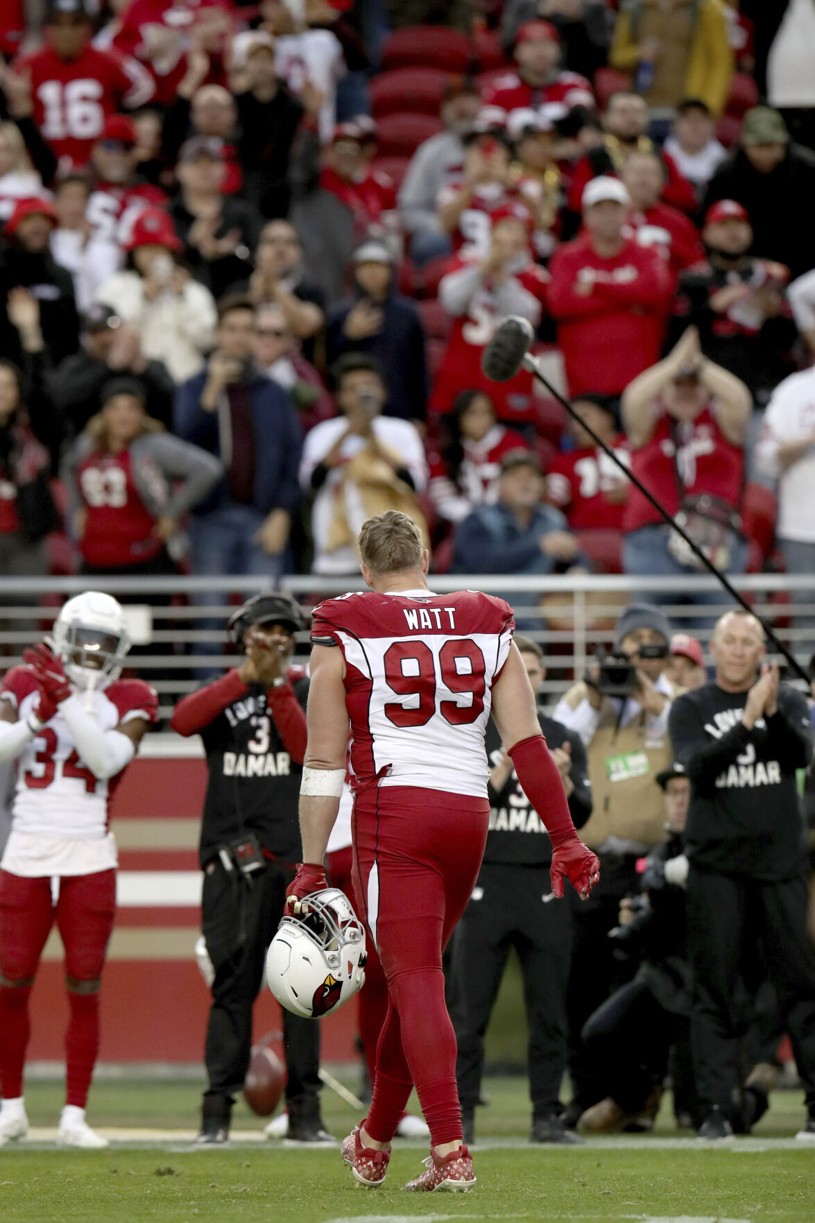
[[[546,675],[541,647],[515,637],[535,692]],[[586,750],[580,736],[538,711],[558,764],[575,828],[591,815]],[[549,881],[552,843],[520,788],[513,762],[491,720],[487,726],[489,832],[472,898],[453,942],[453,1022],[459,1043],[456,1079],[464,1140],[475,1139],[475,1106],[483,1071],[483,1035],[498,996],[507,956],[515,947],[524,975],[529,1024],[532,1142],[579,1144],[558,1115],[567,1060],[565,992],[571,956],[571,910],[554,903]]]

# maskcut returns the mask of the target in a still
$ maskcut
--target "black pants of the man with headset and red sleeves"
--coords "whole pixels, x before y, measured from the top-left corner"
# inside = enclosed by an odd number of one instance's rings
[[[266,953],[278,928],[294,872],[267,862],[251,881],[230,874],[219,859],[204,870],[201,928],[215,970],[204,1060],[207,1096],[233,1097],[244,1086],[252,1049],[252,1009],[263,983]],[[319,1024],[283,1011],[286,1101],[317,1108]]]

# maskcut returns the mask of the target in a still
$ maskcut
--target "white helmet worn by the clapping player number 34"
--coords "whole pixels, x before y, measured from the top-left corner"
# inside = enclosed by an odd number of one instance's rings
[[[105,687],[120,675],[128,649],[125,613],[110,594],[86,591],[62,604],[54,621],[54,651],[77,687]]]

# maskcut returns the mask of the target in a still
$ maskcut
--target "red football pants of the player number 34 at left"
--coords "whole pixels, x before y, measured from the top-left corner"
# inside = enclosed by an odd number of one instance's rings
[[[56,921],[66,975],[76,981],[98,980],[115,915],[115,871],[64,876],[56,905],[49,877],[0,871],[0,975],[7,981],[35,976]]]

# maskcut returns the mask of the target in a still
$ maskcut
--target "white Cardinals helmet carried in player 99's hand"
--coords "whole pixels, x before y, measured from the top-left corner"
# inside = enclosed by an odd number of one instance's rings
[[[303,1019],[339,1010],[365,985],[365,929],[339,888],[303,896],[308,912],[286,915],[266,956],[266,980],[281,1007]]]

